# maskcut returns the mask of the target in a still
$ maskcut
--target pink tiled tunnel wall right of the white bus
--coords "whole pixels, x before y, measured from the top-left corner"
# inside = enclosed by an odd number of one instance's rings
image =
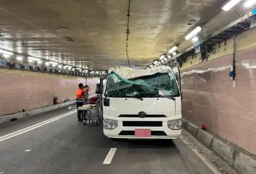
[[[256,47],[183,69],[184,118],[256,155]]]

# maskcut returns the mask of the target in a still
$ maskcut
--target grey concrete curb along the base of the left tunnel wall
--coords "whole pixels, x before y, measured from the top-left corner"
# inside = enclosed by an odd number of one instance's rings
[[[94,97],[97,94],[91,94],[90,97]],[[48,111],[52,111],[54,109],[58,109],[58,108],[62,108],[71,104],[74,104],[75,100],[71,100],[71,101],[67,101],[64,103],[60,103],[58,105],[51,105],[51,106],[45,106],[45,107],[41,107],[41,108],[36,108],[36,109],[31,109],[30,111],[25,111],[25,112],[18,112],[15,114],[9,114],[9,115],[1,115],[0,116],[0,125],[3,123],[7,123],[7,122],[11,122],[11,119],[23,119],[26,118],[28,116],[32,116],[32,115],[36,115],[36,114],[41,114],[44,112],[48,112]]]

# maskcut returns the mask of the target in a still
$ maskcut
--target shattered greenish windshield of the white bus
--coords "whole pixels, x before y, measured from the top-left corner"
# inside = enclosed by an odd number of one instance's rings
[[[156,73],[153,75],[125,79],[111,72],[108,77],[105,94],[109,97],[178,97],[179,88],[173,73]]]

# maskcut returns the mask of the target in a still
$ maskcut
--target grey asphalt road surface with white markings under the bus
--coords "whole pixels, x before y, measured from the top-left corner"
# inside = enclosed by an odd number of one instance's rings
[[[173,141],[113,141],[102,125],[84,126],[68,107],[0,125],[0,174],[225,172],[235,174],[185,131]]]

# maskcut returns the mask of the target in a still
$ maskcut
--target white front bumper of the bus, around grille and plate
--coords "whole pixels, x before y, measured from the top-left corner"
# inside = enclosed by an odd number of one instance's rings
[[[109,138],[138,139],[138,137],[135,137],[133,135],[135,129],[151,129],[151,137],[143,137],[139,139],[176,139],[181,135],[181,129],[172,130],[167,126],[168,120],[181,119],[181,114],[165,118],[122,118],[103,114],[103,118],[118,121],[117,128],[113,130],[103,129],[104,135]],[[162,121],[162,127],[124,127],[123,121]],[[124,132],[127,133],[127,135],[120,135],[123,134]]]

